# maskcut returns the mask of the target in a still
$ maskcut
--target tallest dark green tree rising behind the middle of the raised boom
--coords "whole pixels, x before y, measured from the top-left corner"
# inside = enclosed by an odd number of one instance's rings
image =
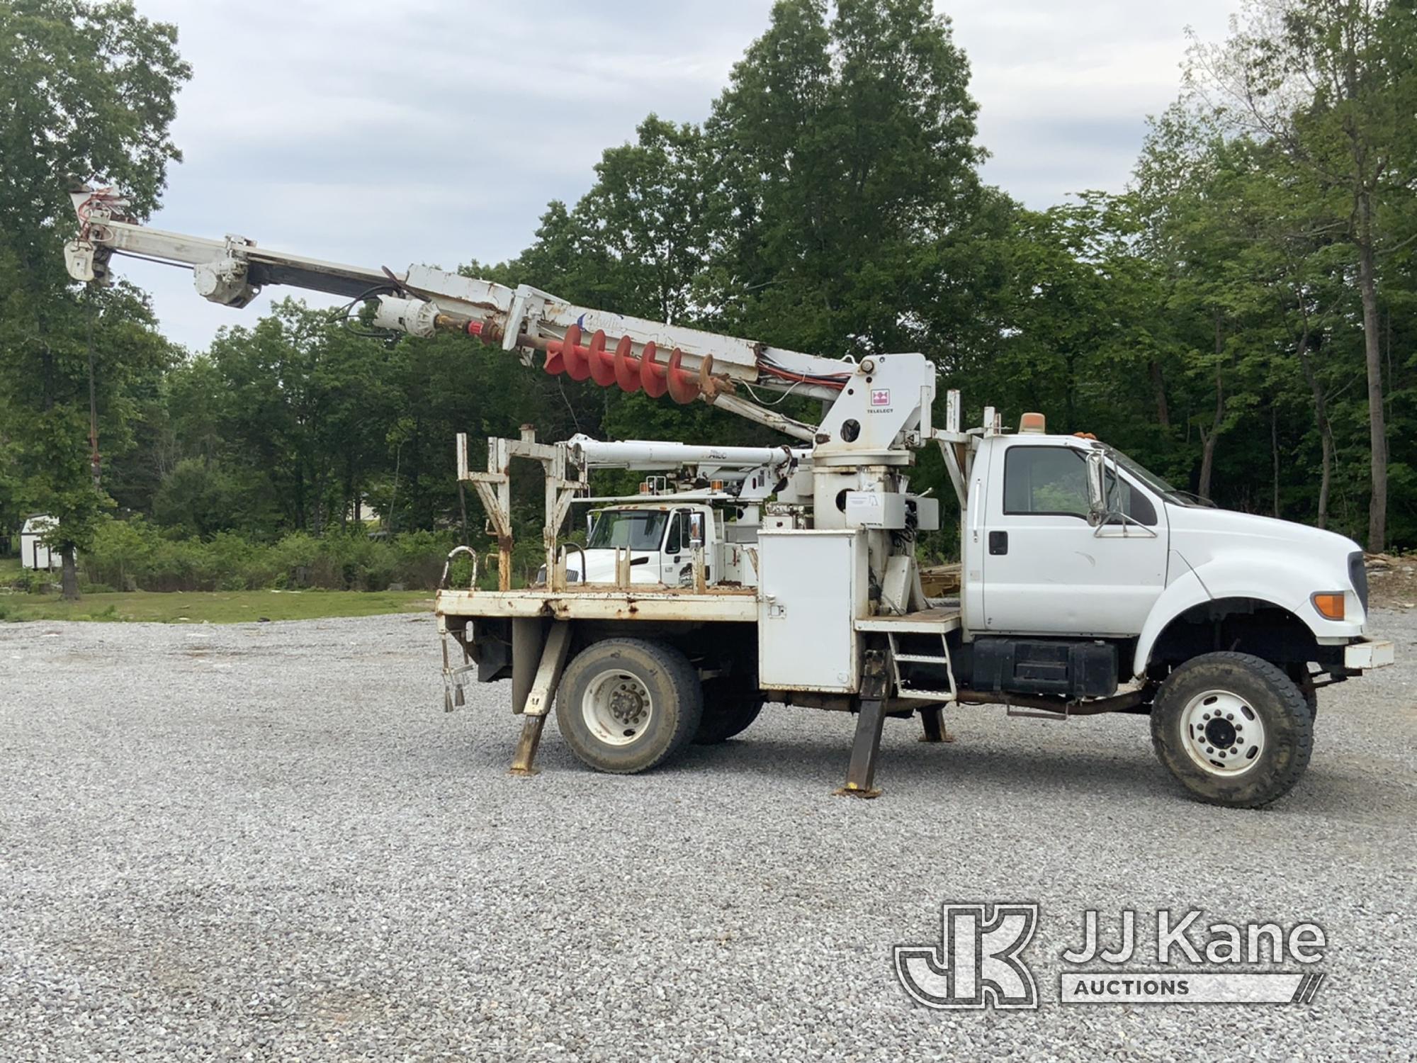
[[[983,190],[969,71],[928,0],[779,0],[706,128],[708,303],[822,354],[918,350],[937,244]]]

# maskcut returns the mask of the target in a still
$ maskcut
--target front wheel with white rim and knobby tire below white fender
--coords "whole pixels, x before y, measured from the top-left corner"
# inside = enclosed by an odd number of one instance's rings
[[[1187,660],[1161,685],[1151,720],[1161,763],[1214,805],[1258,808],[1282,797],[1314,750],[1304,692],[1250,653]]]

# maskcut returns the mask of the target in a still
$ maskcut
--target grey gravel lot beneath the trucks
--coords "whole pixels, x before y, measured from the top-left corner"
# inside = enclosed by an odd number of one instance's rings
[[[1413,1059],[1417,615],[1379,626],[1400,666],[1240,812],[1141,717],[888,721],[873,802],[830,795],[850,719],[782,707],[628,778],[553,724],[513,778],[506,685],[445,716],[429,618],[3,625],[0,1057]],[[907,999],[942,900],[1041,904],[1039,1011]],[[1328,978],[1060,1005],[1087,907],[1314,920]]]

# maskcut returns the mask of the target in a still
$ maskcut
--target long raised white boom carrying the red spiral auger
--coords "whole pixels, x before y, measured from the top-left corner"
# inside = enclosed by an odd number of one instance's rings
[[[509,288],[424,265],[395,274],[269,251],[245,237],[164,232],[133,221],[111,189],[85,186],[71,197],[79,232],[65,245],[65,264],[77,281],[112,283],[112,257],[129,255],[190,268],[198,295],[224,306],[245,306],[266,285],[371,300],[380,327],[475,336],[519,353],[526,364],[541,351],[547,373],[655,398],[667,393],[676,403],[703,398],[805,441],[818,435],[815,425],[747,401],[740,387],[833,401],[857,369],[847,360],[577,306],[530,285]]]

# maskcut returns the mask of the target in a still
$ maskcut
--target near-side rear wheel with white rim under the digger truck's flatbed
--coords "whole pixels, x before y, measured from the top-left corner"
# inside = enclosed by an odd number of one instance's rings
[[[555,721],[597,771],[648,771],[679,754],[699,729],[703,687],[689,658],[645,639],[605,639],[565,669]]]

